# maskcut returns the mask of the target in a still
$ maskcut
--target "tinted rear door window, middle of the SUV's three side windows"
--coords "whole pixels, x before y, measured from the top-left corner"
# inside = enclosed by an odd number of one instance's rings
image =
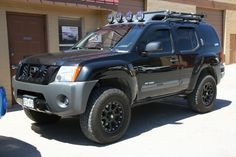
[[[191,51],[198,46],[198,40],[194,28],[178,28],[176,33],[179,51]]]

